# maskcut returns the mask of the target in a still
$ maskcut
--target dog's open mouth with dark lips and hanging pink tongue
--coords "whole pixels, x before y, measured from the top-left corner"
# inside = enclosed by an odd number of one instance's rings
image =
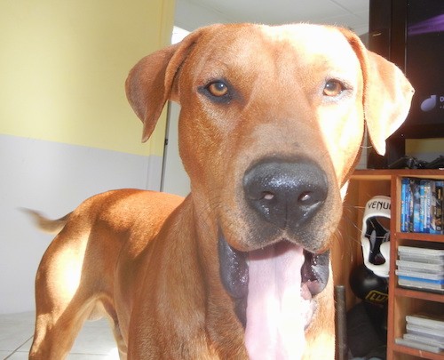
[[[267,349],[281,352],[270,355],[297,358],[304,348],[297,339],[305,339],[315,311],[313,297],[329,279],[329,252],[313,254],[286,240],[239,252],[219,236],[218,255],[222,283],[245,329],[250,358],[264,355],[264,342]]]

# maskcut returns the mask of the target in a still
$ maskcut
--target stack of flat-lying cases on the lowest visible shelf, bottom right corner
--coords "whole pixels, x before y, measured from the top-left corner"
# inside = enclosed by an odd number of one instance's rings
[[[444,352],[444,321],[442,319],[416,314],[406,316],[406,322],[407,333],[395,340],[397,344],[432,353]]]

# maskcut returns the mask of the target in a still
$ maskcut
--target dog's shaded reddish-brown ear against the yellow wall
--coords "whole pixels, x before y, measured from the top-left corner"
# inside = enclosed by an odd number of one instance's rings
[[[177,100],[175,77],[190,48],[202,31],[195,31],[178,44],[170,45],[140,60],[126,79],[126,96],[143,123],[142,141],[155,130],[167,100]]]

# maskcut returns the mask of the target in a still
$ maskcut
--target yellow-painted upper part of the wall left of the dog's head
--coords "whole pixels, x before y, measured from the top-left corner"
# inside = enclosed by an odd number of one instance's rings
[[[0,133],[162,155],[164,116],[142,146],[124,81],[173,17],[174,0],[0,1]]]

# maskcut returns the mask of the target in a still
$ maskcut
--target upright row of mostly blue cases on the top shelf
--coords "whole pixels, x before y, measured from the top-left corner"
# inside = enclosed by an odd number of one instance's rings
[[[400,231],[444,234],[444,181],[402,178]]]

